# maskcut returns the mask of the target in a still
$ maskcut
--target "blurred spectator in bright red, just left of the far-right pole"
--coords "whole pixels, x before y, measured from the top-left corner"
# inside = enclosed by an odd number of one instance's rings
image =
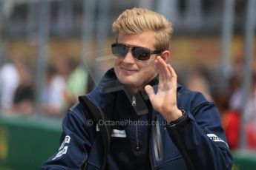
[[[239,143],[242,80],[243,67],[237,62],[233,67],[228,85],[219,94],[221,118],[230,149],[237,149]]]

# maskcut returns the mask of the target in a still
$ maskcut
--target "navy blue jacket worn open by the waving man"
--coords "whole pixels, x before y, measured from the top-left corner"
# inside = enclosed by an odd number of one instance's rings
[[[157,84],[153,87],[157,92]],[[110,69],[92,92],[79,97],[63,120],[59,149],[42,169],[105,169],[112,129],[99,122],[111,120],[114,92],[118,90],[125,89]],[[141,98],[148,96],[141,92]],[[232,169],[232,154],[214,103],[178,84],[177,105],[186,112],[177,123],[166,124],[160,113],[151,112],[151,168]],[[134,109],[142,116],[148,112],[143,107]]]

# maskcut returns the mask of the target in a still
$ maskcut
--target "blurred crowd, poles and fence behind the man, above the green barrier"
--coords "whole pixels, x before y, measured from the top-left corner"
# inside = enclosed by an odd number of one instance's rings
[[[173,23],[179,83],[217,104],[232,150],[256,149],[255,0],[0,0],[0,119],[62,120],[111,67],[131,7]]]

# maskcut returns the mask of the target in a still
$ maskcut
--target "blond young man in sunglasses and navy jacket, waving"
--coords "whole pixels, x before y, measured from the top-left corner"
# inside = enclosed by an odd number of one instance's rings
[[[114,69],[70,108],[42,169],[231,169],[217,107],[166,64],[171,23],[134,8],[113,30]]]

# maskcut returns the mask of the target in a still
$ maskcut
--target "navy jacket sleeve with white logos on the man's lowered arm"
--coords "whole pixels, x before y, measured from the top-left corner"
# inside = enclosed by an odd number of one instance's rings
[[[82,169],[91,149],[91,126],[79,103],[76,103],[62,122],[59,149],[43,165],[42,169]],[[91,124],[90,124],[91,125]]]

